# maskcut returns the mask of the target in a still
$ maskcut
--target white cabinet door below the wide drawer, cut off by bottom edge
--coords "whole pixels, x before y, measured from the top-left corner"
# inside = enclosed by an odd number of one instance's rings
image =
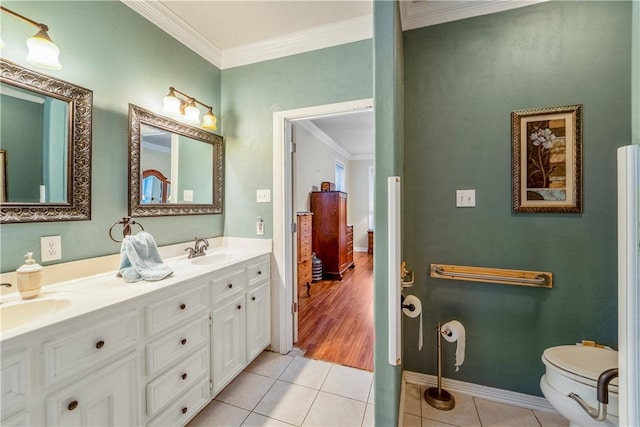
[[[140,424],[137,353],[85,376],[46,399],[49,426]]]

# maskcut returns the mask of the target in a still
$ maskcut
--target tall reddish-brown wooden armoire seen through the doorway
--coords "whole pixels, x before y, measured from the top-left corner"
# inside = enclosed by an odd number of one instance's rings
[[[342,280],[353,266],[353,227],[347,225],[347,193],[311,192],[313,252],[322,260],[323,275]]]

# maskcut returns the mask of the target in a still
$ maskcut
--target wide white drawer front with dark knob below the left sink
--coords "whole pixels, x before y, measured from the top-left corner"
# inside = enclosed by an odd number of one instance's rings
[[[47,384],[88,369],[118,353],[132,349],[138,341],[138,312],[99,321],[87,328],[42,345]]]

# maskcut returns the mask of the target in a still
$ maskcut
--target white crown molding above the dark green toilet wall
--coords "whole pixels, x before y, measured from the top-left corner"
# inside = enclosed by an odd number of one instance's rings
[[[428,27],[474,16],[489,15],[549,0],[490,0],[490,1],[401,1],[402,30]]]

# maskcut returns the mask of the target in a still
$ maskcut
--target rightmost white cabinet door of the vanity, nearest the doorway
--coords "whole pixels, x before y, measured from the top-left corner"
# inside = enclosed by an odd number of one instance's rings
[[[271,342],[270,288],[267,281],[247,292],[247,362]]]

